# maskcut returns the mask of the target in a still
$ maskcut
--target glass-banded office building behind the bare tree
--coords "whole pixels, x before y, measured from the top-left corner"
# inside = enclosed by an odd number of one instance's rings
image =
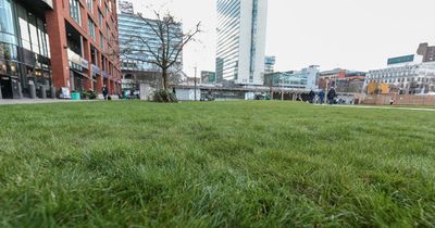
[[[132,5],[133,8],[133,5]],[[133,11],[133,9],[132,9]],[[122,85],[123,90],[136,90],[140,83],[147,83],[154,87],[161,85],[161,69],[151,62],[161,50],[162,41],[154,30],[158,30],[158,21],[145,18],[133,13],[121,13],[119,17],[120,49],[122,52]],[[183,34],[182,24],[177,24],[171,30],[174,34]],[[171,43],[182,42],[181,36],[173,36]],[[172,51],[173,49],[171,49]],[[175,52],[173,58],[175,58]],[[171,68],[173,73],[170,80],[178,80],[183,77],[183,52],[178,55],[176,64]]]

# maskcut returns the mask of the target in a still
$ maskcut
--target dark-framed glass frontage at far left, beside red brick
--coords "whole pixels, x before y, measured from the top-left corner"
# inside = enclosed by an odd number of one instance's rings
[[[28,2],[0,0],[0,98],[2,99],[20,99],[28,96],[29,85],[35,85],[40,94],[42,85],[47,88],[51,86],[51,63],[44,13],[28,8]]]

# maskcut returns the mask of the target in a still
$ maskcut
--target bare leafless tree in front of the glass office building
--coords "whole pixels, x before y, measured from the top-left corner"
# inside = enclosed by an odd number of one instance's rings
[[[120,54],[125,56],[125,59],[147,62],[158,66],[161,71],[162,87],[164,90],[167,90],[171,67],[176,66],[179,62],[178,59],[186,45],[194,41],[195,36],[201,33],[201,22],[194,29],[183,33],[179,29],[181,22],[176,21],[171,13],[161,14],[157,11],[153,12],[156,20],[145,18],[141,14],[137,15],[151,28],[154,37],[147,38],[141,34],[132,34],[129,43],[140,45],[124,43],[126,48],[121,49]],[[159,45],[159,48],[156,48],[156,43]]]

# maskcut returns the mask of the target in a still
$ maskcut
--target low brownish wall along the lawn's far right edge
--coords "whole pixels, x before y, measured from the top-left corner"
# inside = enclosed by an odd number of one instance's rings
[[[435,105],[435,96],[411,96],[411,94],[376,94],[365,96],[364,104],[385,105],[390,100],[397,105]]]

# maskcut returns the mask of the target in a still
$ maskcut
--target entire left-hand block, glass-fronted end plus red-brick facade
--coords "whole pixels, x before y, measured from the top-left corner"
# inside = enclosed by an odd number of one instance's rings
[[[0,0],[2,98],[121,87],[115,0]]]

